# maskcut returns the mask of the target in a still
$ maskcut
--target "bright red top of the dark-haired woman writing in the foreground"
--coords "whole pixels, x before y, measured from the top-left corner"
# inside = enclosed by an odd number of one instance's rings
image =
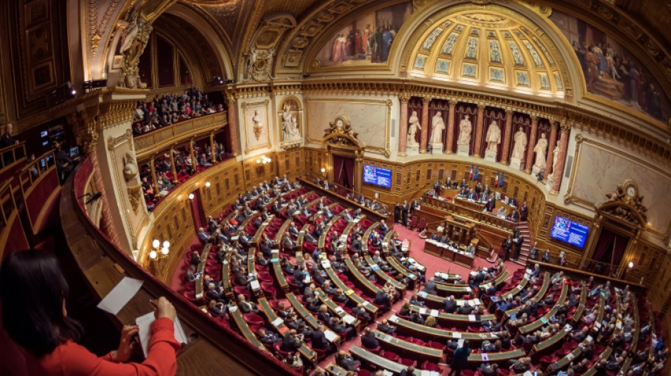
[[[85,347],[68,342],[42,359],[47,375],[64,376],[172,376],[177,372],[177,352],[182,345],[174,339],[174,324],[168,318],[155,320],[147,358],[142,363],[115,363],[109,354],[97,357]]]

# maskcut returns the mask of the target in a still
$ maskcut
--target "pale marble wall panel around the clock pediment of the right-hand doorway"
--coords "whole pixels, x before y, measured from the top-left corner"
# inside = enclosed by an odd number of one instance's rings
[[[573,185],[569,195],[581,205],[599,206],[607,200],[606,194],[629,178],[639,186],[643,205],[648,207],[649,225],[660,233],[666,233],[671,224],[666,205],[671,187],[671,174],[649,161],[625,154],[622,150],[593,140],[589,135],[580,142],[572,176]]]

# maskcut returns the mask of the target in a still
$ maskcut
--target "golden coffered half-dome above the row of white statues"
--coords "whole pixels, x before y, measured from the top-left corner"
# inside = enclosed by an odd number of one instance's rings
[[[477,10],[437,20],[413,47],[409,75],[564,97],[562,56],[519,19]]]

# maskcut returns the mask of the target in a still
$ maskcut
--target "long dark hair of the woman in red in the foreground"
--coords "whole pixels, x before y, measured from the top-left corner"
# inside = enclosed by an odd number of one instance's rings
[[[10,253],[0,265],[2,323],[11,339],[37,358],[68,340],[82,327],[63,314],[68,283],[58,260],[46,250]]]

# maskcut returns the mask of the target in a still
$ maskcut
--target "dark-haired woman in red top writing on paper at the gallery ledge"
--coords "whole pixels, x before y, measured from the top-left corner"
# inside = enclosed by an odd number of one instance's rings
[[[138,345],[133,341],[138,326],[125,325],[121,329],[119,348],[98,357],[77,344],[83,327],[68,317],[68,294],[68,283],[51,252],[13,252],[0,265],[2,325],[9,337],[23,348],[28,375],[177,373],[177,353],[181,345],[174,339],[175,310],[165,297],[151,301],[156,320],[150,326],[148,356],[142,363],[126,363]]]

